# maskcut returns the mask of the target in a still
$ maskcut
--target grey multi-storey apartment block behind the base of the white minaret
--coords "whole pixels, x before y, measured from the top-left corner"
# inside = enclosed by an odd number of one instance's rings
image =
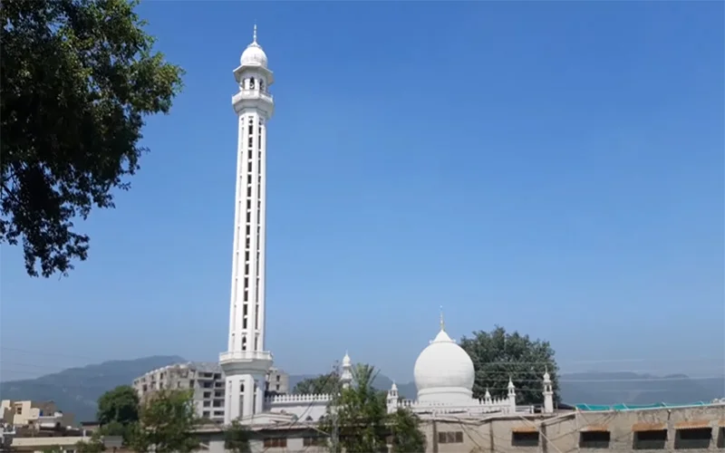
[[[133,381],[133,388],[141,400],[158,390],[193,390],[194,404],[198,416],[203,419],[222,422],[224,420],[225,376],[218,363],[193,362],[176,363],[152,370]],[[268,394],[284,394],[289,391],[289,375],[270,368],[266,374]]]

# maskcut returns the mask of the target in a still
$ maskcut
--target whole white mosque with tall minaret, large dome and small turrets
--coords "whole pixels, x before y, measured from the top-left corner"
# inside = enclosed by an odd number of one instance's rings
[[[318,421],[327,413],[332,395],[265,396],[266,373],[272,353],[265,350],[265,259],[266,259],[266,125],[275,110],[269,92],[274,83],[267,56],[253,41],[242,53],[234,70],[238,92],[232,106],[238,117],[237,184],[232,260],[229,337],[227,352],[219,355],[226,375],[225,424],[239,419],[247,424]],[[353,361],[345,354],[341,381],[353,381]],[[505,399],[473,398],[475,378],[469,354],[446,333],[442,314],[435,338],[420,352],[414,369],[417,400],[401,400],[395,383],[388,390],[388,411],[407,408],[421,417],[450,414],[458,418],[488,413],[528,413],[530,406],[517,406],[516,388],[508,381]],[[553,412],[552,383],[543,375],[544,412]]]

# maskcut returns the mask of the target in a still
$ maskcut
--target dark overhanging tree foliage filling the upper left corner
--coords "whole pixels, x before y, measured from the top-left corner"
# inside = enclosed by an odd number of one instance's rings
[[[73,269],[89,237],[73,222],[114,207],[139,167],[145,117],[168,113],[183,70],[153,51],[138,0],[0,7],[0,243],[28,275]]]

